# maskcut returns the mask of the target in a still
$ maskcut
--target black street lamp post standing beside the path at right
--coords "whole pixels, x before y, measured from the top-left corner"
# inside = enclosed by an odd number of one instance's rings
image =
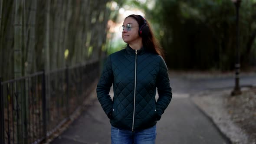
[[[239,7],[241,0],[232,0],[236,6],[236,75],[235,75],[235,88],[231,92],[231,95],[240,95],[242,92],[239,85],[239,73],[240,73],[240,53],[239,53]]]

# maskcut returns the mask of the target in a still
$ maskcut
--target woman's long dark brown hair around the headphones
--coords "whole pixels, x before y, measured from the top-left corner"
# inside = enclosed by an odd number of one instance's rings
[[[141,27],[144,24],[144,20],[142,19],[142,17],[140,15],[131,14],[131,15],[127,16],[126,18],[128,18],[128,17],[132,17],[133,19],[135,19],[137,21],[137,23],[139,24],[139,27]],[[164,51],[163,51],[161,45],[159,44],[158,39],[156,39],[156,37],[154,36],[151,26],[149,25],[147,20],[146,20],[146,22],[149,27],[149,34],[146,37],[144,37],[144,36],[142,37],[143,47],[145,47],[145,49],[147,49],[148,51],[156,53],[164,58]]]

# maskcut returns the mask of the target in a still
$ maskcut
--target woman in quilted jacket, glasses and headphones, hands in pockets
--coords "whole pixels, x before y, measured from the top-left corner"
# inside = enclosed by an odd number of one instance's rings
[[[172,98],[163,52],[140,15],[126,17],[121,31],[127,47],[108,56],[97,85],[98,101],[112,125],[112,144],[154,144],[156,123]]]

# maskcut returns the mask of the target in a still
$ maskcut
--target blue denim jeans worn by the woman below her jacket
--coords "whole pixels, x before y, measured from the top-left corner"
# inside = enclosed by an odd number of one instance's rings
[[[156,125],[141,131],[128,131],[111,126],[112,144],[155,144]]]

